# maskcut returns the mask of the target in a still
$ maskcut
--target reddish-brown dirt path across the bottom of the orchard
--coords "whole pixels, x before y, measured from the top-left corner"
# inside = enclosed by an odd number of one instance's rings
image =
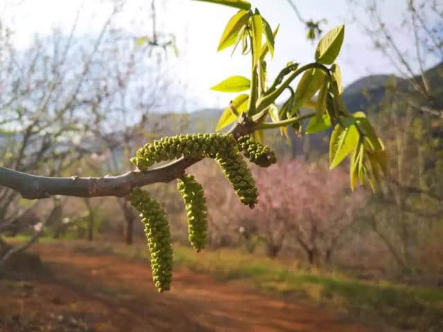
[[[257,295],[208,275],[174,271],[172,290],[159,294],[143,262],[68,246],[35,251],[51,277],[0,289],[0,331],[372,331],[323,308]],[[50,327],[37,330],[42,322]]]

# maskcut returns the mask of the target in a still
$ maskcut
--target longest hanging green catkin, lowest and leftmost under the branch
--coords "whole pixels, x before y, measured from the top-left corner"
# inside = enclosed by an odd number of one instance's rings
[[[159,292],[168,291],[172,279],[172,246],[165,212],[148,192],[140,188],[132,190],[128,199],[141,212],[141,220],[145,224],[154,284]]]

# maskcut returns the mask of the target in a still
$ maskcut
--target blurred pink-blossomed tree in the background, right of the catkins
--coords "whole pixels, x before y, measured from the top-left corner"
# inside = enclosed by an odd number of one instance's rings
[[[334,176],[325,170],[323,163],[298,159],[255,173],[261,199],[254,220],[269,257],[278,255],[284,241],[295,240],[309,264],[329,263],[358,220],[365,195],[359,191],[350,196],[342,167]]]

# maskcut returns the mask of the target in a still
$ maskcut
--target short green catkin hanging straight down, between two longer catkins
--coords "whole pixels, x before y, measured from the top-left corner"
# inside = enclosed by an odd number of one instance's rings
[[[206,219],[208,210],[203,187],[195,181],[194,176],[185,174],[179,178],[177,189],[185,202],[189,242],[199,252],[205,246],[206,231],[208,230],[208,220]]]

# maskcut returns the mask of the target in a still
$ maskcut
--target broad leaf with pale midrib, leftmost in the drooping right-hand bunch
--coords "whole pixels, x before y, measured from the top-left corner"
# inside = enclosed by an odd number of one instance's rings
[[[329,169],[337,167],[355,149],[359,139],[359,131],[354,124],[345,129],[336,124],[329,141]]]

